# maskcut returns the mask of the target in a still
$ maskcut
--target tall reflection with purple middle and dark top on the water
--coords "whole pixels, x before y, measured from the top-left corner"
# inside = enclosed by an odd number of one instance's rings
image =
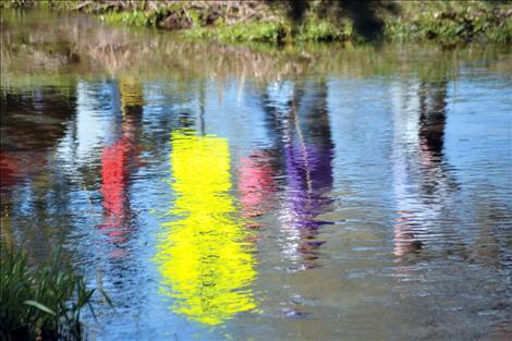
[[[285,188],[282,212],[287,241],[283,252],[300,268],[317,264],[318,229],[327,221],[317,217],[329,210],[332,199],[326,194],[332,188],[333,144],[327,111],[325,82],[301,87],[270,89],[276,111],[281,115]]]

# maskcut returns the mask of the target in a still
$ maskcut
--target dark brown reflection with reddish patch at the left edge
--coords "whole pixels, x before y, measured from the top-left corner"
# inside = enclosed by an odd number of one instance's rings
[[[29,90],[0,88],[2,241],[14,243],[19,238],[45,245],[48,229],[52,228],[47,212],[69,211],[69,193],[59,185],[63,181],[54,172],[52,151],[65,134],[75,108],[72,84],[62,88],[34,86]],[[58,185],[53,183],[56,179],[60,179]],[[11,221],[13,216],[23,219]],[[25,228],[26,217],[37,221],[37,230]]]

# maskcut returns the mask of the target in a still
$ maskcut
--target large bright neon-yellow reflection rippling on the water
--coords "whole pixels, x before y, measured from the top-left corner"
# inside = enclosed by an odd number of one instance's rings
[[[157,261],[164,293],[176,297],[173,310],[219,325],[256,307],[247,288],[256,275],[247,231],[235,216],[228,141],[174,132],[171,170],[176,193],[159,236]]]

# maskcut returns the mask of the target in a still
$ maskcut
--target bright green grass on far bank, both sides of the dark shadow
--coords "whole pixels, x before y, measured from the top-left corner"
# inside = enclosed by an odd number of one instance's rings
[[[313,3],[313,2],[312,2]],[[456,45],[467,41],[512,42],[512,4],[497,1],[401,1],[399,11],[382,12],[385,23],[382,36],[394,41],[436,41]],[[304,21],[292,23],[279,9],[273,9],[272,19],[237,22],[227,25],[223,17],[205,25],[206,14],[194,9],[185,11],[186,3],[167,4],[157,10],[132,9],[101,12],[100,17],[109,23],[131,26],[158,27],[171,13],[182,17],[186,13],[192,27],[180,31],[186,38],[220,42],[293,42],[293,41],[361,41],[353,29],[352,19],[321,14],[315,5],[306,12]],[[337,14],[338,15],[338,14]]]

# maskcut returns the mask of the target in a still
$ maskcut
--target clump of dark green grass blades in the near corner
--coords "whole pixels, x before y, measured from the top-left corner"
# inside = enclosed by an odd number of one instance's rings
[[[96,290],[86,287],[69,260],[62,260],[60,247],[45,264],[33,267],[25,251],[2,243],[0,265],[0,339],[82,339],[82,312],[88,307],[95,315]]]

